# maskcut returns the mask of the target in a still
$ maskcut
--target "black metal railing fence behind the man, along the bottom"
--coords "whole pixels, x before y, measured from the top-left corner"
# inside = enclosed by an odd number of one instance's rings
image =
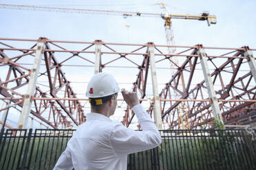
[[[6,130],[0,169],[53,169],[74,130]],[[129,154],[127,169],[256,169],[255,130],[161,130],[162,144]]]

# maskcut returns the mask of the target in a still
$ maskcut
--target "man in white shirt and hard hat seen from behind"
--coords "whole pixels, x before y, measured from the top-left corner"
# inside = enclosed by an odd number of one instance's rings
[[[118,83],[112,75],[98,73],[87,86],[86,95],[91,104],[91,113],[78,126],[67,143],[54,169],[127,169],[127,154],[157,147],[160,133],[139,104],[136,93],[122,89],[125,102],[131,106],[142,127],[134,131],[121,123],[111,121],[117,105]]]

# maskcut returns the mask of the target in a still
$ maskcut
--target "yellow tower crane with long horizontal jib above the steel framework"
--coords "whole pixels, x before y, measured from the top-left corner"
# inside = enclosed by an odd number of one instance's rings
[[[68,13],[78,13],[78,14],[108,14],[108,15],[119,15],[123,16],[125,19],[129,16],[145,16],[145,17],[161,17],[164,19],[164,28],[166,34],[167,45],[175,46],[173,28],[172,28],[172,19],[188,19],[188,20],[198,20],[198,21],[207,21],[208,25],[216,24],[216,16],[209,15],[208,12],[203,12],[201,15],[181,15],[181,14],[169,14],[167,8],[164,3],[156,3],[156,5],[161,5],[162,13],[145,13],[145,12],[122,12],[115,10],[90,10],[90,9],[79,9],[79,8],[58,8],[58,7],[44,7],[44,6],[36,6],[36,5],[12,5],[12,4],[0,4],[0,8],[3,9],[12,9],[12,10],[36,10],[36,11],[46,11],[46,12],[68,12]],[[129,25],[126,25],[129,28]],[[167,49],[169,54],[175,54],[175,47],[168,47]],[[175,73],[175,65],[178,65],[178,58],[172,57],[170,58],[171,64],[171,74]],[[183,83],[183,82],[182,82]],[[178,84],[180,86],[180,84]],[[184,84],[182,84],[184,86]],[[178,98],[178,93],[175,94]],[[184,108],[184,104],[178,107],[178,123],[179,126],[182,126],[182,129],[189,129],[189,119],[186,114],[186,108]],[[184,121],[186,125],[184,125]]]

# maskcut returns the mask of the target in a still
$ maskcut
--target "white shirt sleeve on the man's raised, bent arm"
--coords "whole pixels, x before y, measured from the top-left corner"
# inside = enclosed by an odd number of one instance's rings
[[[161,136],[156,124],[149,114],[140,105],[132,108],[142,131],[131,130],[122,124],[116,125],[111,130],[110,142],[116,154],[131,154],[138,151],[152,149],[160,145]]]

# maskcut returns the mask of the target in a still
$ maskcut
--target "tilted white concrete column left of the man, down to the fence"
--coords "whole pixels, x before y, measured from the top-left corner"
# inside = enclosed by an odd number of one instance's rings
[[[32,104],[32,97],[34,95],[34,91],[36,88],[36,80],[37,80],[39,69],[40,69],[43,49],[45,49],[44,42],[38,42],[36,48],[37,48],[36,56],[34,58],[34,64],[33,64],[32,70],[30,72],[30,80],[28,82],[28,90],[25,95],[23,107],[21,110],[21,115],[19,117],[19,122],[18,122],[19,129],[27,128],[28,117],[30,114],[31,104]]]

